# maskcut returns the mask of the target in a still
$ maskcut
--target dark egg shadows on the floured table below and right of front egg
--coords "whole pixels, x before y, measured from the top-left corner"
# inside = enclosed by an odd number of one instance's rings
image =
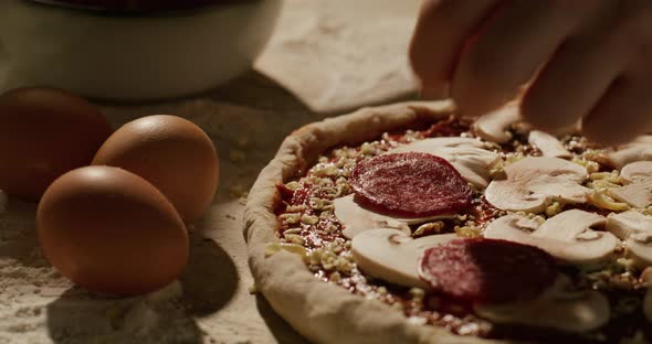
[[[46,308],[54,343],[203,343],[194,316],[222,309],[238,289],[238,271],[213,240],[191,235],[190,261],[175,282],[137,298],[71,288]]]

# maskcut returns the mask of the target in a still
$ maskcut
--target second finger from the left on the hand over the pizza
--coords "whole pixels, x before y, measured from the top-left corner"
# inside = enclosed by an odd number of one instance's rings
[[[555,1],[503,2],[455,71],[451,95],[461,114],[479,116],[514,99],[581,18],[574,8]]]

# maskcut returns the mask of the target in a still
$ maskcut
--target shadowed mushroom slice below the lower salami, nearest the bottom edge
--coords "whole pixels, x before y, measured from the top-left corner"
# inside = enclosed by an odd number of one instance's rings
[[[569,291],[561,276],[555,286],[530,301],[475,305],[480,316],[497,323],[525,324],[565,332],[587,332],[609,322],[607,298],[593,290]]]

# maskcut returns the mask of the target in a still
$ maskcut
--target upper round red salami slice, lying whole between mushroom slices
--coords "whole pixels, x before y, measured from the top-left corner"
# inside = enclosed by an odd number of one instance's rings
[[[349,183],[366,203],[409,217],[459,212],[471,204],[472,197],[471,187],[453,165],[419,152],[362,161]]]

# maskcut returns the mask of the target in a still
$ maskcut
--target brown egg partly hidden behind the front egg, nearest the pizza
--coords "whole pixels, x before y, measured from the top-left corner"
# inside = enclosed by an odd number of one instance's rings
[[[199,127],[176,116],[126,123],[99,148],[93,164],[119,166],[148,180],[187,223],[206,212],[218,187],[215,147]]]

